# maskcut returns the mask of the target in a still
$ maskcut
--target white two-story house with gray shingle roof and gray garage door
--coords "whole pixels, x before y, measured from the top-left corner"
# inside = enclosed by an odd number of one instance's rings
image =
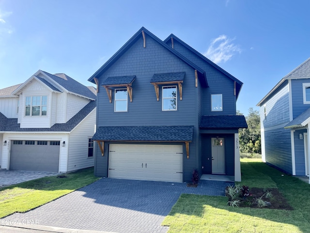
[[[0,90],[0,167],[70,172],[94,166],[96,90],[39,70]]]

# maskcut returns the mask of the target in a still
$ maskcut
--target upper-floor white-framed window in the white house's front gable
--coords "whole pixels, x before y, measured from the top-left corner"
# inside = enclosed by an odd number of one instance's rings
[[[27,96],[25,116],[47,116],[47,96]]]

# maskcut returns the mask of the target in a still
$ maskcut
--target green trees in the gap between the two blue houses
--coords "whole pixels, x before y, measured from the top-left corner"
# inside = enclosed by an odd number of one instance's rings
[[[237,111],[237,115],[242,115]],[[262,153],[261,150],[261,124],[258,111],[249,108],[246,116],[248,129],[239,130],[239,144],[241,153]]]

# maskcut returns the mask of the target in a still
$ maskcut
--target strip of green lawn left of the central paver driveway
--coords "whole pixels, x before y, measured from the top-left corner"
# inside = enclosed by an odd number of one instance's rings
[[[65,176],[66,178],[44,177],[0,188],[0,218],[29,211],[99,179],[93,175],[93,168]]]

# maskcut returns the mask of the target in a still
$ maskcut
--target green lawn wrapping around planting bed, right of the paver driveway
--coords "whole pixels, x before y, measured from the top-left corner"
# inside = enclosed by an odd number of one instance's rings
[[[294,210],[233,208],[226,197],[182,194],[162,223],[168,233],[310,232],[310,185],[259,159],[241,161],[241,185],[278,188]]]

